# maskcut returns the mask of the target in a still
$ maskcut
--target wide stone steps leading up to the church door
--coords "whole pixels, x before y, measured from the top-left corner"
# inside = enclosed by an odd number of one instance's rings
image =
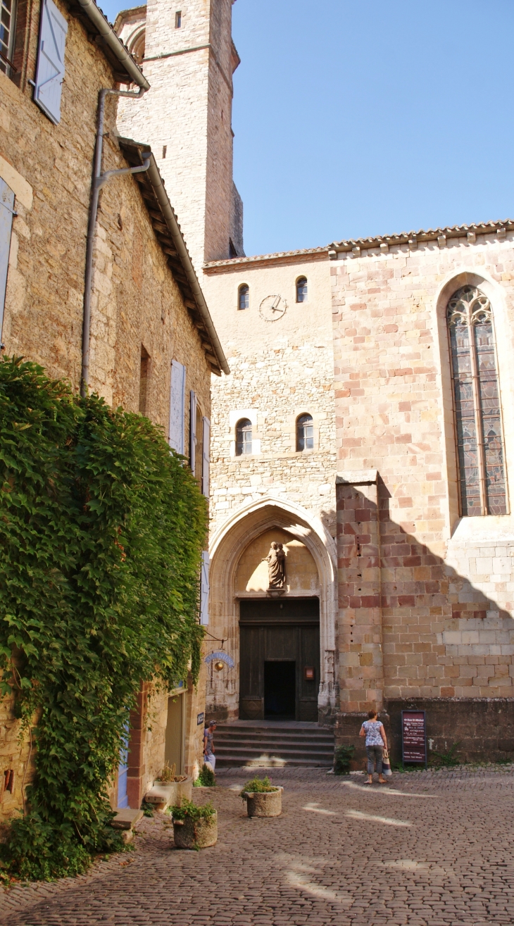
[[[333,733],[317,723],[295,720],[232,720],[214,734],[216,769],[250,766],[330,768]]]

